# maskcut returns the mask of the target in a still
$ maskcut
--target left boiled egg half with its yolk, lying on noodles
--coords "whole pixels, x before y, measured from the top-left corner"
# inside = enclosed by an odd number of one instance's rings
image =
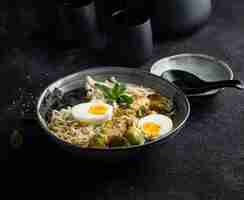
[[[81,122],[101,123],[112,119],[113,107],[102,102],[81,103],[72,107],[72,116]]]

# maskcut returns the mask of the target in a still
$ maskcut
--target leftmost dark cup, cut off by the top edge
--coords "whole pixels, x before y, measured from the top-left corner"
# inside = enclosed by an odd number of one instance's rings
[[[100,35],[93,0],[69,1],[59,8],[61,39],[77,46],[99,47]]]

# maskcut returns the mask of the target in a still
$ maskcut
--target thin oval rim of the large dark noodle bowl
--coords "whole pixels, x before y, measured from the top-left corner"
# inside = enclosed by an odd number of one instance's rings
[[[183,97],[183,101],[185,102],[186,104],[186,114],[185,114],[185,118],[179,123],[178,126],[176,126],[174,129],[172,129],[171,131],[168,132],[167,135],[165,136],[162,136],[162,137],[159,137],[155,140],[152,140],[152,141],[149,141],[147,143],[144,143],[144,144],[141,144],[141,145],[132,145],[132,146],[125,146],[125,147],[113,147],[113,148],[95,148],[95,147],[86,147],[86,148],[82,148],[80,147],[79,145],[76,145],[76,144],[71,144],[71,143],[68,143],[66,141],[63,141],[61,139],[59,139],[57,136],[55,136],[46,126],[46,121],[43,119],[43,117],[41,116],[40,112],[39,112],[39,108],[42,104],[42,101],[46,95],[46,93],[49,91],[49,88],[53,87],[54,85],[56,85],[58,82],[61,82],[62,80],[64,79],[69,79],[70,77],[72,76],[77,76],[81,73],[88,73],[89,71],[94,71],[94,70],[100,70],[100,71],[110,71],[110,70],[118,70],[118,71],[130,71],[130,72],[136,72],[136,73],[144,73],[144,74],[147,74],[147,76],[151,76],[153,77],[154,79],[158,79],[160,81],[163,81],[163,82],[166,82],[168,85],[170,85],[171,87],[173,87],[182,97]],[[161,79],[159,76],[155,75],[155,74],[152,74],[148,71],[145,71],[145,70],[142,70],[142,69],[139,69],[138,68],[131,68],[131,67],[118,67],[118,66],[100,66],[100,67],[90,67],[90,68],[86,68],[84,70],[81,70],[81,71],[78,71],[76,73],[72,73],[72,74],[69,74],[69,75],[66,75],[64,77],[61,77],[59,79],[57,79],[56,81],[52,82],[51,84],[49,84],[42,92],[41,92],[41,95],[39,96],[38,98],[38,101],[37,101],[37,106],[36,106],[36,115],[37,115],[37,120],[40,124],[40,126],[42,127],[42,129],[44,129],[45,133],[50,136],[52,139],[55,140],[55,142],[57,143],[61,143],[61,144],[64,144],[65,146],[70,146],[70,147],[75,147],[75,148],[78,148],[79,150],[81,151],[120,151],[120,150],[130,150],[130,149],[138,149],[138,148],[143,148],[143,147],[147,147],[147,146],[150,146],[152,144],[156,144],[156,143],[159,143],[159,142],[162,142],[166,139],[168,139],[169,137],[171,136],[174,136],[176,135],[179,130],[181,130],[183,128],[183,126],[185,125],[186,121],[188,120],[189,116],[190,116],[190,103],[189,103],[189,100],[187,98],[187,96],[183,93],[183,91],[181,91],[178,87],[176,87],[174,84],[170,83],[169,81],[167,80],[164,80],[164,79]]]

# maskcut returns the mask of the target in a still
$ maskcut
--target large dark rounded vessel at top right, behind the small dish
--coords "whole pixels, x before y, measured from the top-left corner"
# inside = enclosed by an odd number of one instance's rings
[[[211,0],[153,0],[153,32],[157,35],[192,32],[207,21],[211,9]]]

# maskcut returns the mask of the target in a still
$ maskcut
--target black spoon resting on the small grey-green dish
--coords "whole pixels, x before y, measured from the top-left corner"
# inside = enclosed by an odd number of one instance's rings
[[[200,79],[196,75],[182,70],[168,70],[162,74],[162,77],[181,88],[186,94],[199,94],[214,89],[224,87],[233,87],[244,89],[244,83],[241,80],[223,80],[208,82]]]

